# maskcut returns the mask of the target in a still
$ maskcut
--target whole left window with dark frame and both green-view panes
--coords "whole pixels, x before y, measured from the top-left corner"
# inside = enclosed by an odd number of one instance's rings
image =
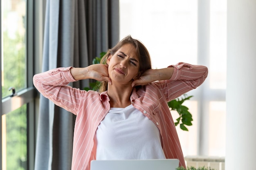
[[[34,10],[40,3],[33,0],[1,1],[2,170],[34,169],[37,113],[32,78],[34,70],[38,69],[35,65],[40,65],[34,55],[40,50],[37,45],[40,45],[42,33],[35,28],[43,8],[41,6],[35,14]],[[38,18],[35,23],[34,18]]]

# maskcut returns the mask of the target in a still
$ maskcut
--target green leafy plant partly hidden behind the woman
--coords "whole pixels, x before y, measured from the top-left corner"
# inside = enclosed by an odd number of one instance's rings
[[[101,58],[106,54],[106,52],[102,52],[100,53],[100,57],[95,57],[92,60],[92,64],[99,64],[101,61]],[[89,90],[93,90],[93,91],[97,91],[98,90],[98,86],[99,82],[97,81],[93,81],[89,83],[90,87],[85,87],[83,88],[86,91]],[[171,108],[171,110],[176,110],[177,113],[180,115],[180,117],[178,117],[176,120],[177,122],[175,122],[175,126],[180,124],[180,128],[182,130],[185,131],[189,131],[188,128],[186,128],[186,126],[191,126],[193,119],[192,119],[192,115],[189,112],[189,108],[187,108],[186,106],[182,105],[184,101],[189,100],[191,97],[193,96],[189,96],[187,97],[186,94],[182,95],[180,98],[174,99],[170,102],[168,102],[168,106],[169,108]],[[180,123],[181,121],[181,123]]]

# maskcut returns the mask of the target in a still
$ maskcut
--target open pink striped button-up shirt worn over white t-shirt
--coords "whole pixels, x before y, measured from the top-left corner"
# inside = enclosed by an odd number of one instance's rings
[[[182,62],[169,67],[175,68],[171,79],[152,82],[138,90],[134,88],[130,101],[159,128],[166,158],[179,159],[180,166],[186,167],[167,102],[200,86],[207,77],[208,69]],[[34,86],[54,104],[76,115],[72,170],[90,170],[90,161],[96,158],[94,135],[110,110],[110,99],[107,91],[87,92],[67,86],[69,82],[76,81],[70,68],[55,68],[34,75]]]

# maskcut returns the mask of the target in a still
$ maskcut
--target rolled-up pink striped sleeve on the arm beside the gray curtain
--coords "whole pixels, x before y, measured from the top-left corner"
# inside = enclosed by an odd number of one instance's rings
[[[57,106],[76,114],[78,99],[81,91],[67,86],[76,80],[70,73],[70,68],[55,68],[44,73],[34,75],[33,83],[36,89]]]

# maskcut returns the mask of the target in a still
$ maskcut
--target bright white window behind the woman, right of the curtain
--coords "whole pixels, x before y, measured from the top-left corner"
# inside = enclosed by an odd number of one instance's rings
[[[153,68],[188,62],[208,66],[189,92],[189,132],[177,127],[184,156],[225,156],[226,0],[120,0],[120,38],[141,40]],[[172,112],[175,119],[175,113]],[[216,128],[218,125],[218,128]]]

